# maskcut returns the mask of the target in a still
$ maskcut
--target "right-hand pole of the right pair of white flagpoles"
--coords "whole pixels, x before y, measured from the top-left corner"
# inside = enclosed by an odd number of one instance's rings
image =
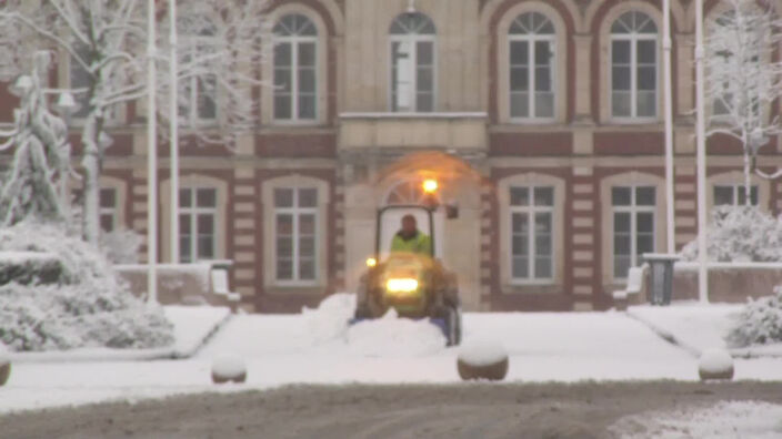
[[[703,79],[703,0],[695,0],[695,112],[698,151],[698,297],[709,302],[706,273],[706,139]]]

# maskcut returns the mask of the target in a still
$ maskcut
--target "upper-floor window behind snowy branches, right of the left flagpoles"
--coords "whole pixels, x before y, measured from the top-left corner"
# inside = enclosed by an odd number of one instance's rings
[[[210,50],[213,49],[211,39],[217,33],[217,29],[204,20],[197,21],[198,28],[189,25],[187,29],[192,32],[183,40],[184,63],[193,63],[188,53],[199,53],[199,58],[207,58]],[[201,61],[196,60],[199,64],[194,65],[197,70],[201,70]],[[205,63],[208,64],[208,63]],[[209,70],[209,69],[205,69]],[[218,116],[217,94],[218,81],[213,74],[194,74],[184,78],[180,81],[180,116],[183,118],[191,126],[203,123],[213,122]]]

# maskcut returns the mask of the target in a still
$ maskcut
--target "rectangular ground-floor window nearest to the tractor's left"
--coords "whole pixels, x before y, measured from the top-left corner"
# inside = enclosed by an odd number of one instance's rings
[[[317,273],[318,190],[278,187],[273,197],[275,277],[312,283]]]

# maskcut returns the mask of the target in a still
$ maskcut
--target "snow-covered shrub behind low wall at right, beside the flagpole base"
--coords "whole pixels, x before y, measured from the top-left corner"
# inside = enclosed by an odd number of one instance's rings
[[[782,222],[755,206],[718,206],[706,234],[714,262],[782,262]],[[682,249],[682,261],[698,259],[698,239]]]

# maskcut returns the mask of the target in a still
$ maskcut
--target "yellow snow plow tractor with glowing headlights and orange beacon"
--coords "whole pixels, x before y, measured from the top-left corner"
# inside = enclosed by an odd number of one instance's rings
[[[455,274],[435,258],[434,216],[444,208],[445,216],[454,218],[458,208],[439,204],[435,180],[424,180],[422,188],[425,196],[421,204],[378,210],[375,252],[367,261],[352,321],[379,318],[393,308],[400,317],[429,319],[443,331],[448,345],[454,346],[460,344],[462,330],[459,288]],[[388,239],[389,232],[399,225],[388,220],[400,217],[401,228]],[[418,223],[428,233],[419,229]]]

